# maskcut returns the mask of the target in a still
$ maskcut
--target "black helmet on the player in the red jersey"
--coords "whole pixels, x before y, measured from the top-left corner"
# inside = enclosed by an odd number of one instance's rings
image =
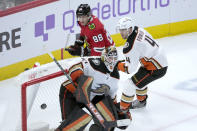
[[[91,15],[90,6],[88,4],[79,5],[78,8],[77,8],[77,11],[76,11],[76,15],[77,15],[77,17],[80,16],[80,15],[90,16]]]

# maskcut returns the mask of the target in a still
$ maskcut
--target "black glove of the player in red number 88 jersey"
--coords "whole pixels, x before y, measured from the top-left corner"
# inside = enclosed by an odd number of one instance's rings
[[[65,48],[73,56],[81,56],[83,53],[83,47],[71,45],[68,48]]]

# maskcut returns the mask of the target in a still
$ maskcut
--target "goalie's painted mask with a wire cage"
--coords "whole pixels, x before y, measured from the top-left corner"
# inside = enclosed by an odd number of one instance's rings
[[[105,48],[101,54],[101,60],[110,72],[113,72],[115,65],[118,62],[118,53],[114,46]]]

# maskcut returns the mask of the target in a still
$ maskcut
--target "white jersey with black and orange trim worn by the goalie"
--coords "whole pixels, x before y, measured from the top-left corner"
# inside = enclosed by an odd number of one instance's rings
[[[112,99],[115,98],[116,92],[118,90],[118,80],[119,72],[117,67],[114,68],[113,72],[109,72],[103,61],[100,58],[79,58],[78,61],[69,62],[69,75],[75,81],[76,75],[80,75],[83,72],[86,76],[93,77],[92,89],[97,89],[102,85],[107,85],[110,87],[109,95]],[[102,95],[91,92],[90,100],[94,98],[95,95]]]

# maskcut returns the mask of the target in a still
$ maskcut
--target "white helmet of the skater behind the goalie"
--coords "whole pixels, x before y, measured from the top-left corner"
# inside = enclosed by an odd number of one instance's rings
[[[132,26],[134,26],[133,20],[129,17],[123,17],[118,21],[116,29],[129,29]]]

